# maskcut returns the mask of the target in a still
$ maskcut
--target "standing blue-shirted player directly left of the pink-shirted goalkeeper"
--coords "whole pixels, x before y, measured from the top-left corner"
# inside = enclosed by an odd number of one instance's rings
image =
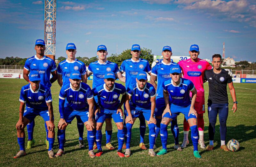
[[[173,65],[177,65],[171,61],[172,48],[170,46],[164,46],[162,50],[163,61],[157,63],[151,72],[150,83],[156,89],[156,109],[155,109],[155,118],[156,118],[156,138],[160,132],[160,123],[162,120],[162,114],[165,109],[165,102],[163,96],[163,83],[166,80],[171,78],[170,69]],[[157,85],[156,85],[157,78]],[[174,136],[175,146],[174,148],[178,151],[182,151],[179,145],[179,127],[177,124],[177,119],[173,119],[171,122],[171,131]],[[155,145],[154,145],[155,147]]]

